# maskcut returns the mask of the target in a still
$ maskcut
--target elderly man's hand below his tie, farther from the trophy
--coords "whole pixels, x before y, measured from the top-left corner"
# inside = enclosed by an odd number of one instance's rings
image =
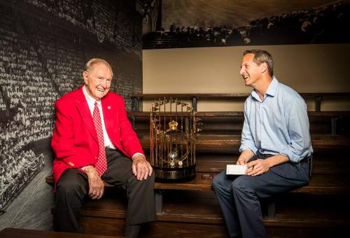
[[[84,169],[89,181],[89,195],[92,199],[100,199],[104,195],[104,181],[99,177],[99,173],[92,166],[88,165]]]

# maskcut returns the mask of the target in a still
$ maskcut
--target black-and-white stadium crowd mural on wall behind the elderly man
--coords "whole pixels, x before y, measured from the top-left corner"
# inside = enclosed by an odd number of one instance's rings
[[[139,1],[0,1],[0,213],[43,168],[54,103],[83,83],[92,57],[109,61],[111,91],[142,92]],[[50,148],[45,148],[50,149]]]

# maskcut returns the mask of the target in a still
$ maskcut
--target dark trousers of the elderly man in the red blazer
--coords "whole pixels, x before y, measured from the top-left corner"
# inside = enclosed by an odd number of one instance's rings
[[[127,191],[125,225],[155,221],[154,173],[146,180],[132,174],[132,160],[115,149],[106,149],[107,170],[102,180]],[[54,229],[62,232],[83,232],[78,223],[79,209],[89,191],[87,175],[76,168],[65,170],[57,181]]]

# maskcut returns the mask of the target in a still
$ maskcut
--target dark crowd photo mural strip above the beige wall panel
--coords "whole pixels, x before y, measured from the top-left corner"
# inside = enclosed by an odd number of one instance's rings
[[[349,43],[350,1],[162,0],[144,49]]]

